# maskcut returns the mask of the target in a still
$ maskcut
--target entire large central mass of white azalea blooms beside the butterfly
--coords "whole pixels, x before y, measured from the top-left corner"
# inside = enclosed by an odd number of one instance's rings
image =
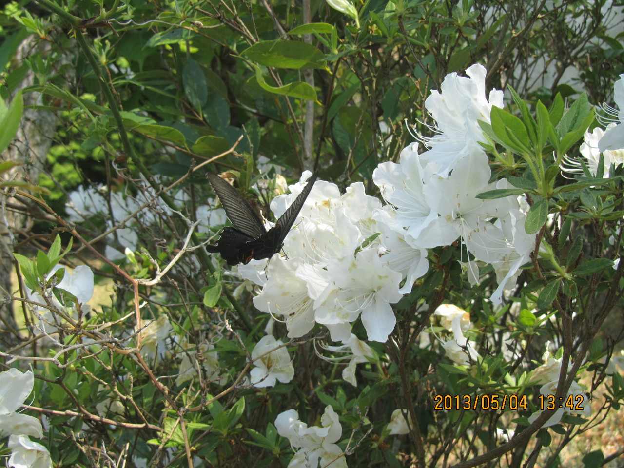
[[[414,143],[402,151],[400,163],[381,163],[374,171],[388,205],[366,195],[361,183],[341,195],[333,183],[318,180],[286,237],[288,256],[275,256],[268,266],[239,266],[244,278],[262,286],[256,308],[283,319],[289,338],[321,323],[334,341],[348,340],[351,323],[361,318],[369,340],[386,341],[396,324],[391,304],[427,272],[427,249],[458,238],[477,260],[494,266],[499,288],[492,301],[500,303],[503,288],[514,284],[535,236],[525,232],[517,198],[475,198],[507,188],[505,181],[488,183],[488,159],[479,145],[479,120],[489,122],[492,105],[502,107],[502,91],[492,90],[487,100],[484,67],[472,66],[467,74],[450,74],[441,92],[426,100],[439,130],[427,140],[429,150],[418,154]],[[308,177],[304,173],[289,195],[273,200],[276,217]],[[375,233],[381,235],[367,245]],[[477,265],[470,268],[476,278]]]

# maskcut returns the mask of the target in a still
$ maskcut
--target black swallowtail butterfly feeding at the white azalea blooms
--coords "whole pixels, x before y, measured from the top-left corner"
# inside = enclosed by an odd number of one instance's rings
[[[217,245],[209,245],[206,250],[220,253],[228,265],[249,263],[252,258],[255,260],[271,258],[284,244],[284,239],[293,226],[303,202],[308,198],[317,175],[318,172],[313,173],[308,179],[308,185],[280,216],[275,226],[267,231],[258,213],[232,185],[218,175],[208,173],[208,181],[234,227],[223,228]]]

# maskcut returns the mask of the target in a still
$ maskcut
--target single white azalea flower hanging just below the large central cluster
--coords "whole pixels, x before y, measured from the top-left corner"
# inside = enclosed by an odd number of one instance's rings
[[[276,340],[271,335],[263,336],[253,348],[251,359],[260,358],[280,344],[283,344],[281,340]],[[253,365],[255,367],[251,369],[250,377],[251,384],[256,387],[273,387],[278,380],[282,383],[288,383],[295,376],[295,368],[290,362],[290,356],[288,356],[288,350],[285,346],[266,354],[266,356],[255,361]]]

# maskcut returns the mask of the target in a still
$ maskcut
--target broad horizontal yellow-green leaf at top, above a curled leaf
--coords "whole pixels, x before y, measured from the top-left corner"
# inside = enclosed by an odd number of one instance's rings
[[[266,67],[324,69],[323,52],[301,41],[262,41],[248,47],[243,56]]]

